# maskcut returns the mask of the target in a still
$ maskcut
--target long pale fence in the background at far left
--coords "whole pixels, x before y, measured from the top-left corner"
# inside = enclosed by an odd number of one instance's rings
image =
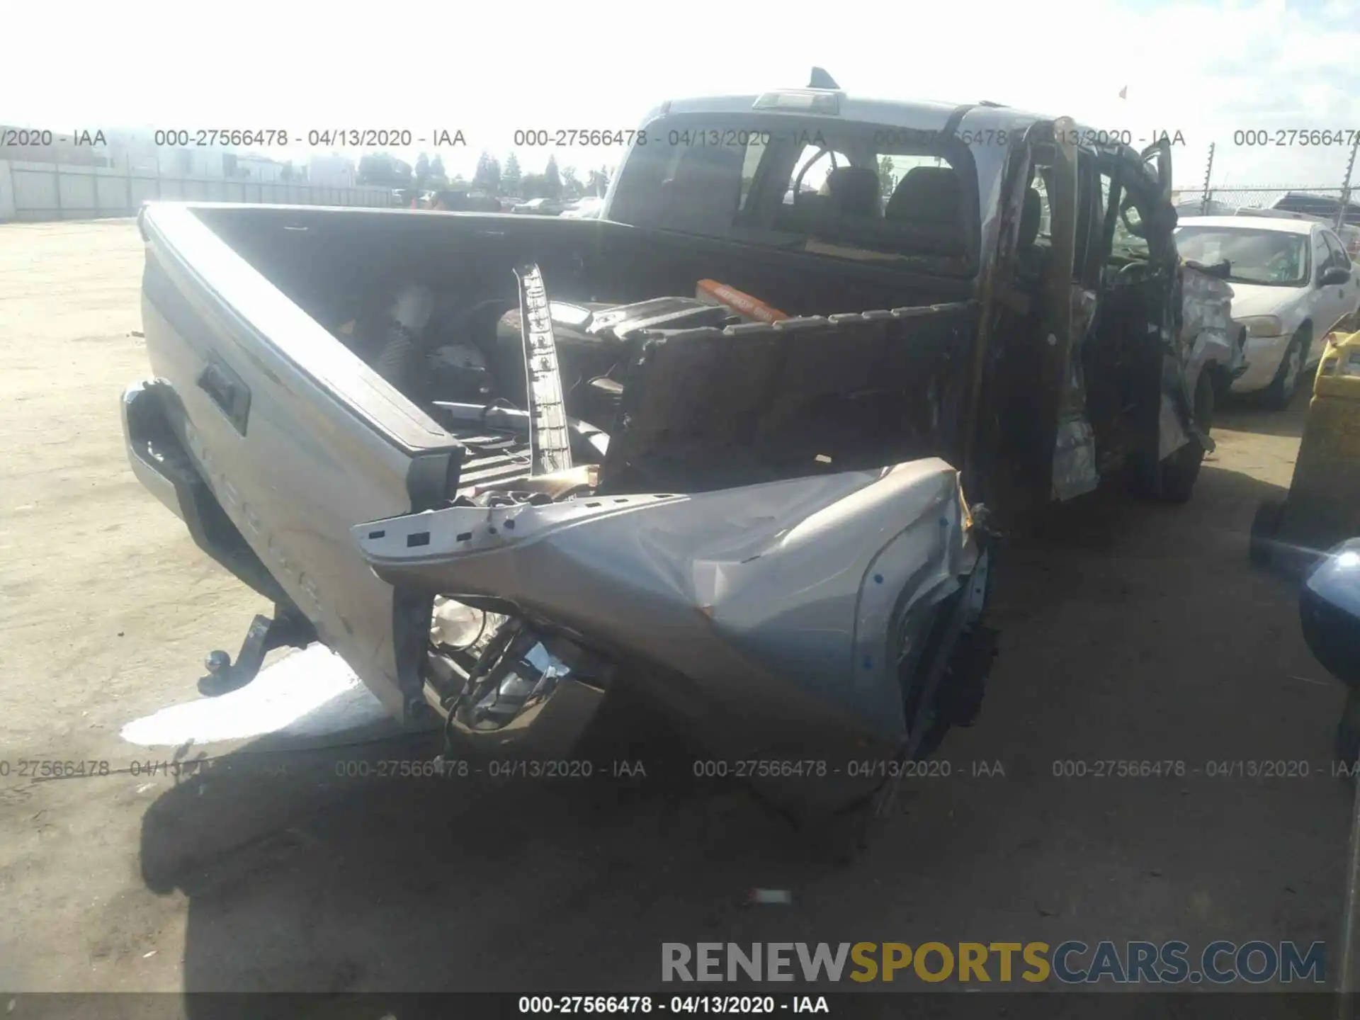
[[[163,177],[126,167],[0,159],[0,223],[135,216],[156,199],[269,205],[392,205],[388,188],[332,188],[298,181]]]

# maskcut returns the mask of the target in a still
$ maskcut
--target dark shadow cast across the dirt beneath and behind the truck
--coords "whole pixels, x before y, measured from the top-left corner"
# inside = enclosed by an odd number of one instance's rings
[[[1322,762],[1341,703],[1291,679],[1321,673],[1293,590],[1247,567],[1272,492],[1206,466],[1186,507],[1098,494],[1009,536],[982,717],[849,866],[647,733],[615,752],[650,756],[646,781],[598,774],[608,752],[589,781],[356,778],[426,760],[431,734],[233,753],[143,820],[147,887],[189,900],[184,987],[642,991],[666,941],[1336,944],[1349,792],[1316,771],[1204,775],[1214,759]],[[1102,759],[1183,768],[1058,767]],[[1296,846],[1299,831],[1321,835]],[[792,903],[747,906],[752,888]]]

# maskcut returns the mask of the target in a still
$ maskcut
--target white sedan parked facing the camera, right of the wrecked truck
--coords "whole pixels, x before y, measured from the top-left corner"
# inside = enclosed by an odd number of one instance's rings
[[[1228,262],[1232,318],[1247,330],[1247,369],[1232,392],[1262,392],[1284,408],[1322,356],[1316,341],[1360,306],[1360,284],[1325,223],[1266,214],[1187,216],[1175,238],[1186,261]]]

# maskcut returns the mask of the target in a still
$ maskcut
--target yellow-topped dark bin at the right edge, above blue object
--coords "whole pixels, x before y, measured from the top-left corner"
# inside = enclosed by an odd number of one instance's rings
[[[1360,332],[1330,333],[1289,492],[1257,509],[1251,562],[1303,567],[1355,536],[1360,536]]]

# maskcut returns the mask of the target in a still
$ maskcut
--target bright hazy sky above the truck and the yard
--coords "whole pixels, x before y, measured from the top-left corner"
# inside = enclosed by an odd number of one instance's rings
[[[820,64],[866,97],[991,99],[1134,139],[1179,131],[1178,185],[1202,180],[1216,141],[1217,185],[1340,186],[1345,144],[1243,147],[1234,132],[1360,129],[1360,0],[518,0],[480,10],[121,0],[69,11],[5,7],[0,122],[461,129],[468,148],[442,155],[450,174],[471,174],[481,150],[503,160],[517,128],[634,128],[668,97],[805,86]],[[518,155],[533,170],[548,151]],[[617,159],[556,155],[581,170]]]

